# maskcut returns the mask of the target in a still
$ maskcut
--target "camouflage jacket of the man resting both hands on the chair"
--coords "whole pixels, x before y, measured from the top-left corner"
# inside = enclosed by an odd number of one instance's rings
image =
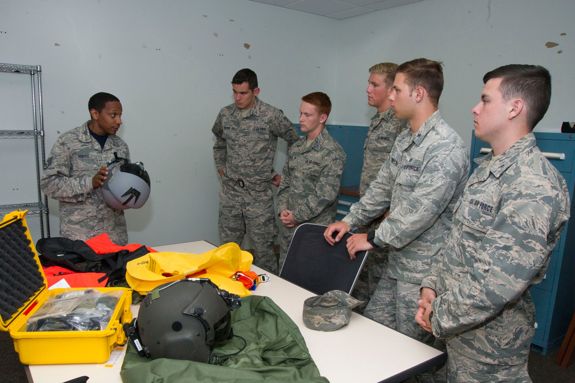
[[[439,111],[421,125],[413,140],[411,135],[411,129],[400,133],[377,178],[343,221],[354,229],[389,208],[374,239],[379,246],[390,245],[388,274],[421,283],[449,233],[469,159],[465,143]]]

